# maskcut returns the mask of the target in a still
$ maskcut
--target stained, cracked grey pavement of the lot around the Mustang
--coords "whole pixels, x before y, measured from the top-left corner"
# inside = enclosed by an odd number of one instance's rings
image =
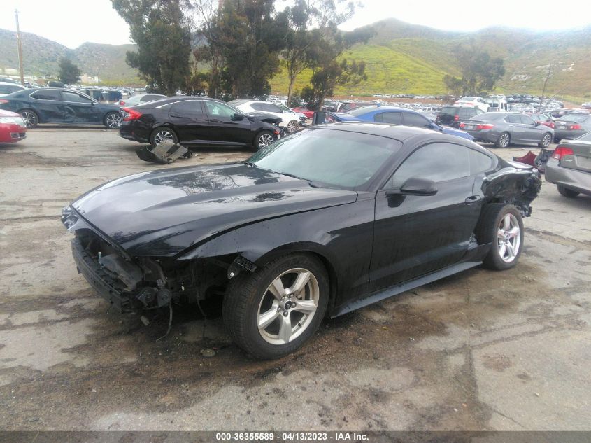
[[[492,148],[492,146],[487,146]],[[590,430],[591,198],[543,183],[520,265],[471,269],[249,358],[219,307],[145,326],[76,273],[64,205],[161,166],[101,128],[0,147],[0,422],[6,430]],[[531,149],[494,150],[510,159]],[[198,150],[171,166],[243,160]],[[215,349],[216,355],[201,355]]]

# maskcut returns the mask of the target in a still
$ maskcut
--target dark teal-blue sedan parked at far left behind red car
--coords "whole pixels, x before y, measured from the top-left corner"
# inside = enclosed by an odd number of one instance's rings
[[[27,89],[0,98],[0,108],[19,113],[27,127],[39,123],[67,125],[105,125],[117,129],[119,106],[99,103],[85,94],[69,89],[43,87]]]

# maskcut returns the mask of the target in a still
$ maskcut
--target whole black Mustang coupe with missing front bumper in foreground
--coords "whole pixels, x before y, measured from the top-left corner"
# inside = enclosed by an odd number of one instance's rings
[[[78,270],[122,311],[223,297],[259,358],[334,317],[484,265],[513,267],[541,181],[459,137],[337,123],[248,161],[119,178],[64,208]]]

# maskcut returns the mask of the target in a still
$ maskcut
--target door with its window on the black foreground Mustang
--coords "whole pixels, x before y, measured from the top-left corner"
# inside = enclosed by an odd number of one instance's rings
[[[469,151],[455,143],[420,146],[376,193],[371,291],[453,265],[467,253],[482,201],[473,190]],[[436,195],[387,195],[408,178],[434,181]]]

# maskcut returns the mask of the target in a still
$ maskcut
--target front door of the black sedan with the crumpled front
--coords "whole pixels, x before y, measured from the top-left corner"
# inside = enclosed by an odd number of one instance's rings
[[[205,107],[216,144],[245,146],[252,144],[250,120],[235,108],[221,101],[205,101]]]

